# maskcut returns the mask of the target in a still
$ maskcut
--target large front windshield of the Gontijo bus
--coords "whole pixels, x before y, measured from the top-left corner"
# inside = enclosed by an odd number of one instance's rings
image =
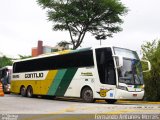
[[[143,85],[142,66],[135,51],[114,48],[115,54],[123,57],[123,66],[118,68],[120,83],[128,85]]]

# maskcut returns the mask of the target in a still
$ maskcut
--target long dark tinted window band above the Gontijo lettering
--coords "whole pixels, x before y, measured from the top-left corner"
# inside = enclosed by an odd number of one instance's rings
[[[94,66],[92,50],[17,62],[14,64],[13,72],[30,72],[89,66]]]

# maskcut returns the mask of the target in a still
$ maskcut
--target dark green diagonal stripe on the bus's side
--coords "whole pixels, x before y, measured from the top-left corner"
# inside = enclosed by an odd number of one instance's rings
[[[64,96],[78,68],[67,69],[61,83],[56,91],[56,96]]]

